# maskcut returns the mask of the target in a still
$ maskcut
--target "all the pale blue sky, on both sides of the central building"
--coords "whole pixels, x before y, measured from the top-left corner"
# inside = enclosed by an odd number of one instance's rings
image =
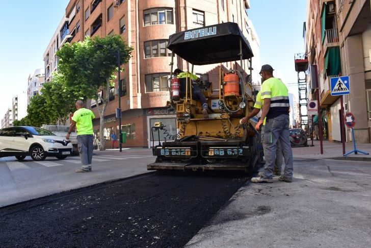
[[[25,91],[30,73],[43,67],[42,56],[69,0],[1,0],[0,118],[12,97]],[[14,8],[14,4],[16,8]],[[307,0],[250,0],[248,15],[260,40],[262,64],[270,64],[297,95],[294,54],[304,52]],[[259,68],[255,68],[259,69]]]

